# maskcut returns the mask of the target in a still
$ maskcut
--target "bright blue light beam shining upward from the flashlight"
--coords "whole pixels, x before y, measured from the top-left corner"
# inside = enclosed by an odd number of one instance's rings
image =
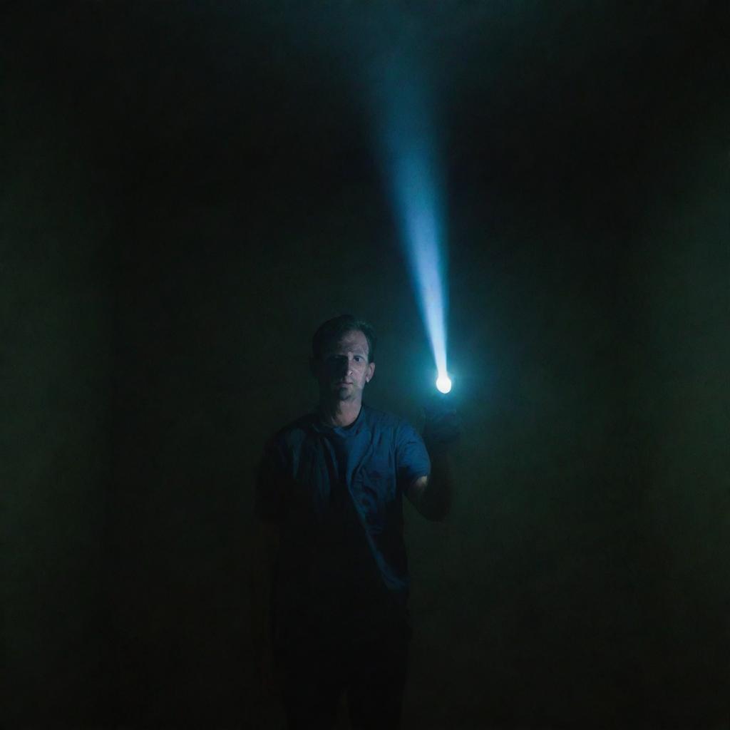
[[[451,389],[446,363],[447,262],[438,166],[425,89],[410,64],[388,66],[381,97],[386,172],[401,240],[437,371],[437,388]]]

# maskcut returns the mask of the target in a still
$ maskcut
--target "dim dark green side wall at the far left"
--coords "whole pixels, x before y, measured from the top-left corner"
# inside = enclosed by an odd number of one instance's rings
[[[112,223],[72,88],[6,60],[0,704],[6,727],[82,726],[108,712],[113,650]]]

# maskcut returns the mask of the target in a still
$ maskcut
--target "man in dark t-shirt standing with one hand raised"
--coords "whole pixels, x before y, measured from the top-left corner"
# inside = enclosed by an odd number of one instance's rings
[[[362,402],[375,372],[372,328],[350,315],[312,339],[318,411],[266,445],[255,511],[255,637],[264,689],[289,727],[333,726],[347,696],[353,728],[396,728],[411,630],[402,495],[426,518],[450,507],[453,414],[423,440]],[[429,458],[430,455],[430,458]]]

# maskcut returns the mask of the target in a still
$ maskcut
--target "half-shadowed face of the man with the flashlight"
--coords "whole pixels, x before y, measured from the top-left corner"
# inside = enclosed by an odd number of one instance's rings
[[[315,361],[315,374],[323,396],[338,401],[362,398],[365,383],[375,372],[375,364],[368,362],[367,338],[359,330],[350,330],[333,340]]]

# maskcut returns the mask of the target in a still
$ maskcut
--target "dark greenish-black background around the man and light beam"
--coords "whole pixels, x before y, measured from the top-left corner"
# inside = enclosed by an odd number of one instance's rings
[[[730,6],[6,3],[3,724],[253,717],[248,550],[312,331],[431,359],[363,69],[431,89],[465,423],[407,505],[406,728],[730,723]],[[377,64],[376,64],[377,65]]]

